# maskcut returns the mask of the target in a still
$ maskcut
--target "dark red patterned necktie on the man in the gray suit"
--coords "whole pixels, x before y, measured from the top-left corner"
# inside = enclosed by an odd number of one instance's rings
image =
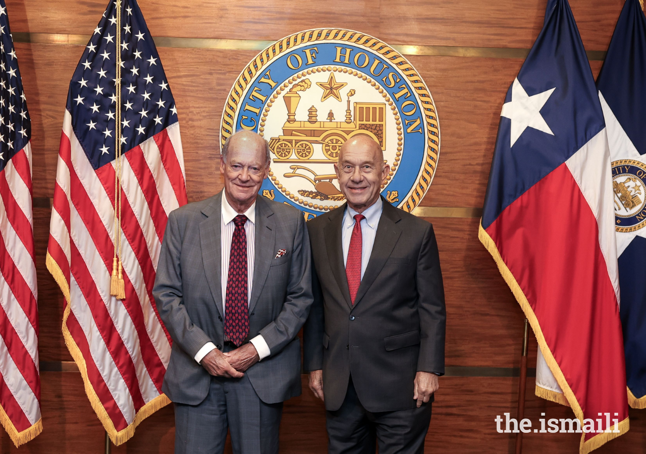
[[[231,238],[229,276],[225,295],[224,334],[236,344],[249,334],[249,303],[247,301],[247,234],[244,224],[247,216],[238,214],[233,218],[236,229]]]

